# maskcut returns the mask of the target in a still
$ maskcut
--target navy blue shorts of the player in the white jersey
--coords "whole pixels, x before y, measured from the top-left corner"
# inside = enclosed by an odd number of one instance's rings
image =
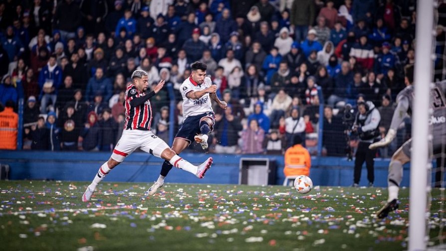
[[[180,130],[178,130],[175,138],[180,138],[189,141],[191,144],[194,140],[195,135],[200,134],[200,122],[204,118],[210,118],[212,120],[211,132],[214,130],[215,124],[215,114],[214,112],[203,113],[197,116],[190,116],[183,122]]]

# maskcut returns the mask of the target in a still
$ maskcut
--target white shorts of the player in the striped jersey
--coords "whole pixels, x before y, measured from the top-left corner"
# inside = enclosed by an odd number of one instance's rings
[[[111,158],[117,162],[122,162],[127,155],[133,153],[139,147],[144,152],[158,158],[161,158],[161,153],[169,148],[166,142],[158,138],[152,131],[124,130]]]

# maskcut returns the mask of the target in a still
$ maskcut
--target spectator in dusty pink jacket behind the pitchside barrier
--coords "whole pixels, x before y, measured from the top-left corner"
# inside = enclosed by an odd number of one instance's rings
[[[243,154],[260,154],[263,153],[263,140],[265,131],[259,127],[257,120],[248,120],[248,127],[241,132]]]

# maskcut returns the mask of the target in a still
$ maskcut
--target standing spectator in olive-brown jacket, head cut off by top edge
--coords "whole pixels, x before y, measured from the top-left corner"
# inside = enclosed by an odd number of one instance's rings
[[[295,28],[294,34],[297,42],[305,38],[308,29],[313,25],[314,17],[315,7],[313,0],[293,1],[290,12],[290,23],[291,27]]]

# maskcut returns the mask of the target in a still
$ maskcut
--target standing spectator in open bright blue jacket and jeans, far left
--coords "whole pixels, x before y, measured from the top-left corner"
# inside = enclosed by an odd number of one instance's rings
[[[56,104],[57,90],[62,83],[62,70],[57,66],[54,55],[49,57],[47,65],[40,71],[38,82],[40,87],[40,112],[46,113],[49,100],[51,100],[53,106]]]

